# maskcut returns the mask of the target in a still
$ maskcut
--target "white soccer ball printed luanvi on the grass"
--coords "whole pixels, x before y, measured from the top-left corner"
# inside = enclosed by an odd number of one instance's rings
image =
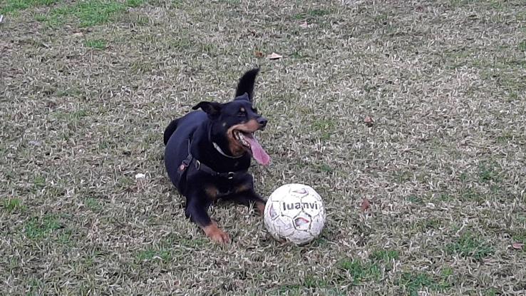
[[[267,200],[264,221],[276,240],[296,245],[310,243],[325,225],[323,200],[308,185],[282,185]]]

